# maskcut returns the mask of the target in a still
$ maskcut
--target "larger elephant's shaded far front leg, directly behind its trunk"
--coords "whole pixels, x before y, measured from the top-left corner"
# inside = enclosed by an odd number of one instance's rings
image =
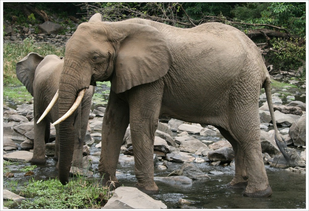
[[[119,186],[116,168],[128,125],[129,106],[111,90],[102,123],[101,155],[98,167],[100,175],[103,176],[102,185],[110,186],[115,182],[115,188]]]

